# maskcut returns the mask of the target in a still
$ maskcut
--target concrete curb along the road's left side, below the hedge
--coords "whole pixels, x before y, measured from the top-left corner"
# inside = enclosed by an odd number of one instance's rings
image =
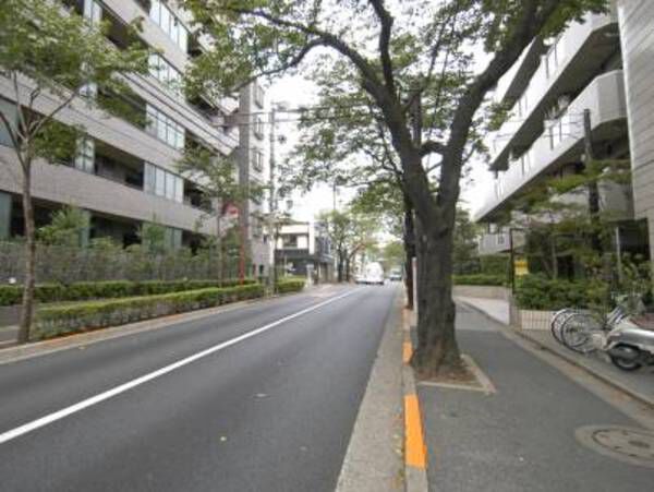
[[[233,311],[246,305],[255,304],[258,302],[266,302],[274,299],[295,296],[298,293],[305,293],[307,290],[302,292],[288,292],[268,298],[249,299],[246,301],[232,302],[229,304],[220,305],[217,308],[208,308],[197,311],[191,311],[187,313],[172,314],[170,316],[156,317],[146,321],[140,321],[137,323],[130,323],[125,325],[96,329],[87,333],[80,333],[62,338],[53,338],[51,340],[35,341],[26,345],[17,345],[9,348],[1,348],[0,346],[0,365],[11,362],[17,362],[20,360],[31,359],[33,357],[45,356],[48,353],[58,352],[61,350],[68,350],[71,348],[78,348],[89,344],[96,344],[98,341],[110,340],[122,336],[134,335],[137,333],[149,332],[153,329],[164,328],[171,324],[186,323],[191,321],[202,320],[209,317],[215,314]]]

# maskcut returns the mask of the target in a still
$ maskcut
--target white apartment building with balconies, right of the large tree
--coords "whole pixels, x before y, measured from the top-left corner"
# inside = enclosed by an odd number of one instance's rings
[[[650,10],[653,7],[652,2],[625,1],[630,9],[635,3],[646,4]],[[584,22],[571,24],[555,39],[535,39],[498,83],[495,101],[512,109],[504,125],[487,139],[489,168],[495,180],[493,189],[473,214],[474,220],[487,225],[487,231],[480,240],[481,254],[506,252],[511,244],[513,248],[522,245],[523,235],[502,226],[511,218],[516,219],[517,214],[512,211],[516,200],[544,179],[578,173],[583,169],[584,112],[590,115],[594,157],[630,158],[633,145],[630,148],[629,134],[633,118],[628,108],[637,106],[644,110],[649,106],[652,113],[654,99],[643,99],[640,94],[641,100],[628,101],[627,98],[631,85],[627,75],[633,53],[625,43],[625,22],[619,20],[626,17],[625,9],[618,9],[614,3],[608,13],[588,15]],[[652,12],[649,15],[640,19],[646,19],[643,22],[650,23],[652,32],[654,17]],[[642,25],[631,28],[644,32]],[[651,40],[647,46],[650,75]],[[635,76],[644,76],[642,65],[641,56],[637,69],[641,72]],[[650,124],[647,131],[651,128]],[[639,181],[634,173],[634,189],[643,188],[637,185]],[[642,247],[643,237],[633,223],[632,185],[606,182],[598,188],[602,211],[615,217],[616,242],[623,248]],[[577,190],[561,200],[588,206],[586,193]],[[654,194],[652,196],[654,199]]]

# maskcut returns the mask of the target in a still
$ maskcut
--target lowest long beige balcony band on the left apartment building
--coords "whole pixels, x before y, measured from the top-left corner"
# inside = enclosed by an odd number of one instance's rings
[[[10,147],[0,146],[0,159],[9,165],[0,166],[0,189],[21,193],[20,167]],[[215,220],[202,220],[204,214],[189,205],[159,197],[116,177],[106,178],[63,165],[35,163],[33,170],[33,195],[53,203],[71,204],[92,212],[152,220],[154,216],[165,226],[194,231],[202,221],[199,232],[216,233]]]

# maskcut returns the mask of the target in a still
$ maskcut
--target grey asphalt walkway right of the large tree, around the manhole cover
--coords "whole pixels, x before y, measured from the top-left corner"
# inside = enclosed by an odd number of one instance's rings
[[[498,323],[463,307],[457,320],[462,351],[496,393],[419,385],[432,491],[652,488],[651,468],[606,457],[574,437],[582,425],[637,422],[505,337]]]

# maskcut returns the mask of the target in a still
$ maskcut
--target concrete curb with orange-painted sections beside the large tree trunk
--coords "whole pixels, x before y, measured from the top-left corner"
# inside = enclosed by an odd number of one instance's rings
[[[402,311],[402,333],[403,333],[403,339],[404,339],[404,344],[408,347],[411,348],[411,350],[413,350],[413,343],[411,341],[411,319],[410,319],[410,314],[408,314],[407,310]],[[415,384],[415,377],[413,375],[413,368],[411,368],[411,365],[409,365],[408,363],[408,359],[410,359],[410,353],[404,355],[404,361],[402,363],[402,392],[404,395],[404,481],[405,481],[405,491],[407,492],[426,492],[428,490],[428,482],[427,482],[427,468],[426,468],[426,446],[424,444],[425,440],[424,440],[424,425],[422,424],[422,422],[424,421],[424,419],[422,419],[422,412],[420,410],[420,399],[417,398],[417,387]],[[410,399],[411,398],[411,399]],[[417,409],[417,413],[419,413],[419,421],[414,422],[413,424],[411,424],[409,422],[408,416],[407,416],[407,405],[409,401],[411,401],[412,399],[415,400],[415,406]],[[413,425],[417,429],[410,429],[410,425]],[[420,455],[420,452],[422,451],[423,456],[422,456],[422,460],[424,461],[423,464],[416,464],[415,463],[411,463],[413,459],[411,459],[409,457],[409,453],[411,449],[408,449],[409,447],[409,443],[408,443],[408,436],[410,435],[410,433],[420,433],[420,435],[417,436],[420,443],[419,444],[413,444],[413,446],[422,446],[423,449],[414,449],[414,453],[416,452]],[[422,443],[422,444],[421,444]],[[421,460],[421,457],[419,456],[417,460]]]

